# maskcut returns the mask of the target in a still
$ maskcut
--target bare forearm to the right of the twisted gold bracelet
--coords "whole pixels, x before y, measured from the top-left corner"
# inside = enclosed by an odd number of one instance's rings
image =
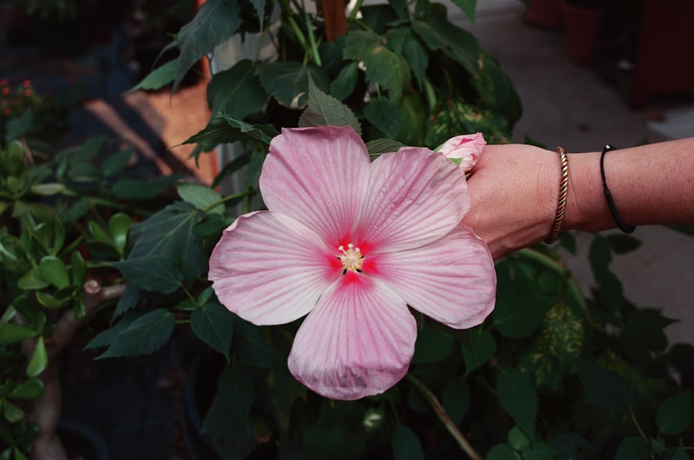
[[[569,155],[564,230],[616,227],[604,197],[600,153]],[[604,171],[625,223],[694,222],[694,139],[610,151],[604,158]]]

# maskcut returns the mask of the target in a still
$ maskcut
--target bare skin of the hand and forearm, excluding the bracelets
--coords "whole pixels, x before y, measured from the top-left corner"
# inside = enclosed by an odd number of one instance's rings
[[[600,178],[600,151],[568,155],[568,195],[561,230],[616,228]],[[557,210],[561,164],[553,151],[489,145],[471,170],[471,210],[464,219],[495,259],[548,237]],[[694,138],[610,151],[607,185],[630,225],[694,223]]]

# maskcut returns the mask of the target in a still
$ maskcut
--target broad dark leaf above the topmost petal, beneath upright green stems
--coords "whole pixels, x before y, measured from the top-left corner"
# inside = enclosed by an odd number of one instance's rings
[[[323,91],[330,83],[325,70],[301,62],[266,62],[259,66],[260,83],[285,107],[303,108],[308,102],[309,76]]]

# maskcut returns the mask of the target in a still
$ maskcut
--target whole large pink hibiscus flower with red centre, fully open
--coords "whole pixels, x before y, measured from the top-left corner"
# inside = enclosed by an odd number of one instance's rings
[[[382,393],[409,367],[416,320],[482,323],[496,272],[461,220],[464,173],[427,148],[370,162],[352,128],[283,129],[260,176],[268,211],[239,216],[210,258],[230,311],[256,325],[305,315],[289,354],[297,380],[325,397]]]

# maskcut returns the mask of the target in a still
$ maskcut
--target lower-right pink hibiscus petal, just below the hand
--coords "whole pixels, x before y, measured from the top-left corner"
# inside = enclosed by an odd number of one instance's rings
[[[466,225],[428,246],[379,255],[376,264],[379,278],[408,305],[450,327],[478,325],[494,308],[491,254]]]

